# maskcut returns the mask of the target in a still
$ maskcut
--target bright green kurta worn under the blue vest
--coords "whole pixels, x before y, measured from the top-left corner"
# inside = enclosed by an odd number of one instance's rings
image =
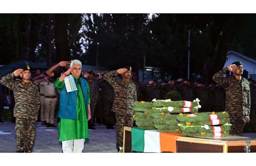
[[[83,98],[83,93],[81,89],[80,78],[76,79],[74,77],[75,82],[78,82],[78,94],[77,94],[77,119],[63,119],[60,118],[60,122],[58,123],[59,129],[59,141],[67,141],[67,140],[77,140],[77,139],[88,139],[88,121],[86,115],[86,107]],[[58,78],[54,84],[57,89],[62,89],[65,86],[64,80],[62,82],[58,81]],[[87,84],[88,89],[88,104],[90,104],[90,90],[89,85]]]

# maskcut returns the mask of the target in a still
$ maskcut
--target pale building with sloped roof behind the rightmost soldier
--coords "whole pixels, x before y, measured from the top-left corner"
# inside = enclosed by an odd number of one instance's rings
[[[236,61],[241,61],[243,64],[243,70],[248,71],[248,79],[252,77],[252,79],[256,79],[256,60],[253,58],[246,57],[245,55],[239,54],[235,51],[227,52],[227,61],[223,68],[232,64]]]

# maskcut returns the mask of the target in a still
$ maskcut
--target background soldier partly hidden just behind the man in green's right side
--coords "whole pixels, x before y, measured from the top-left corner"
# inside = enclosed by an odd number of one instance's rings
[[[87,74],[83,75],[86,79],[86,81],[89,84],[90,87],[90,109],[91,109],[91,116],[92,119],[88,122],[88,129],[95,130],[95,127],[93,127],[94,122],[94,112],[97,105],[97,102],[99,101],[99,86],[98,86],[98,79],[95,78],[96,74],[93,71],[89,71]]]

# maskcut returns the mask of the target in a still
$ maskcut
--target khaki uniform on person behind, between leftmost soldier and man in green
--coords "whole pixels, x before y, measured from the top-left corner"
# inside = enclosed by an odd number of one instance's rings
[[[44,104],[45,104],[45,108],[44,108],[44,118],[46,123],[50,123],[53,124],[54,122],[54,111],[55,111],[55,107],[56,107],[56,102],[57,102],[57,98],[56,98],[56,88],[54,87],[54,83],[50,83],[50,82],[42,82],[43,86],[44,86],[44,92],[45,92],[45,100],[44,100]],[[42,113],[42,111],[41,111]],[[42,114],[41,114],[42,116]]]

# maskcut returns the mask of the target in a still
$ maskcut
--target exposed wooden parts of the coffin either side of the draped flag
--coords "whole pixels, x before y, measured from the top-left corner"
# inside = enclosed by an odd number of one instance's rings
[[[222,138],[177,136],[177,152],[256,152],[256,138],[230,135]],[[132,152],[131,127],[124,127],[124,152]]]

